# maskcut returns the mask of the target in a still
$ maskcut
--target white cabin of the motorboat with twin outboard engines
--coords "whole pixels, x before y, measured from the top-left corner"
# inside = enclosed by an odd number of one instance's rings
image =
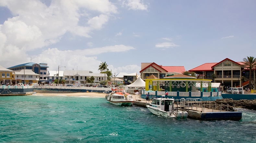
[[[166,112],[173,111],[174,99],[155,98],[152,100],[149,106],[156,108],[157,110],[163,110]]]

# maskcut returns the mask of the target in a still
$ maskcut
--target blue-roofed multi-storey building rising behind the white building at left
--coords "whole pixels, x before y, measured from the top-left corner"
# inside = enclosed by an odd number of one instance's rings
[[[34,73],[39,74],[39,79],[40,82],[46,82],[47,79],[47,63],[34,63],[34,62],[29,62],[29,63],[24,63],[24,64],[19,64],[16,66],[9,67],[7,69],[13,70],[13,71],[20,71],[20,70],[32,70]],[[39,82],[39,83],[40,83]]]

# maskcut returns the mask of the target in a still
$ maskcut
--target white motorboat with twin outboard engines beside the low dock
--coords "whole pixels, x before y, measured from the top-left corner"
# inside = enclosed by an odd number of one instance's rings
[[[188,112],[174,108],[174,99],[155,98],[146,106],[155,115],[167,118],[187,119]]]

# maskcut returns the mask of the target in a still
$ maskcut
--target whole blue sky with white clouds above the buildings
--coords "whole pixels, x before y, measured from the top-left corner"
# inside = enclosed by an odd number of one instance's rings
[[[0,65],[117,74],[256,57],[255,0],[1,0]]]

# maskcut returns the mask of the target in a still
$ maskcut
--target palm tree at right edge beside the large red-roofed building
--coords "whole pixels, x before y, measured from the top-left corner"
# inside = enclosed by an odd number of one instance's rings
[[[254,57],[248,57],[247,56],[247,58],[243,58],[243,68],[247,68],[247,69],[249,69],[249,88],[251,87],[251,84],[250,84],[250,82],[251,82],[251,70],[252,69],[254,69],[254,68],[256,68],[256,58],[254,58]]]

